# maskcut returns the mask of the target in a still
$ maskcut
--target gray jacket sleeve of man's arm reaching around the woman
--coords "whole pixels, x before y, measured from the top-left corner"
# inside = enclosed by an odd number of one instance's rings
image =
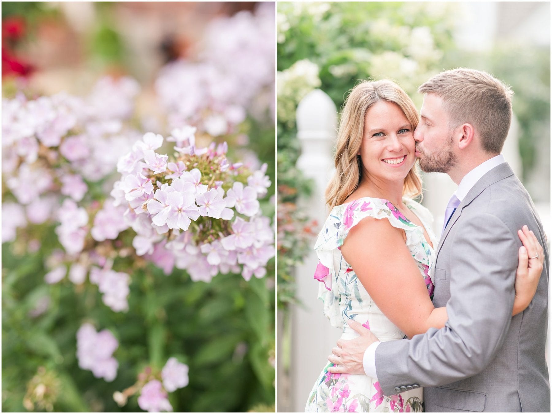
[[[506,336],[517,237],[489,213],[457,226],[454,245],[440,253],[451,255],[445,272],[450,280],[449,320],[444,328],[378,346],[376,373],[386,395],[395,394],[397,386],[437,386],[473,376],[495,357]]]

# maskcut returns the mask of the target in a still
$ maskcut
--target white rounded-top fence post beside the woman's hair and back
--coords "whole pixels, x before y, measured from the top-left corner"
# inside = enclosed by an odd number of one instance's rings
[[[301,143],[297,166],[305,177],[315,182],[312,197],[301,205],[317,220],[320,228],[327,217],[324,191],[333,173],[336,106],[325,92],[317,89],[301,100],[296,119]],[[312,239],[312,247],[315,240]],[[295,306],[291,315],[291,411],[304,410],[309,392],[341,336],[341,331],[333,328],[322,315],[322,302],[317,298],[320,282],[313,278],[317,264],[312,250],[304,263],[295,269],[296,294],[304,306]]]

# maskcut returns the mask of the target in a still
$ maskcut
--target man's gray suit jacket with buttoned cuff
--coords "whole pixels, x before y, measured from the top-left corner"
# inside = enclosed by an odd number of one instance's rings
[[[524,224],[544,247],[544,270],[529,307],[512,317]],[[549,266],[533,202],[508,164],[496,166],[471,188],[439,242],[433,303],[447,307],[445,327],[376,348],[385,395],[418,384],[427,412],[550,412]]]

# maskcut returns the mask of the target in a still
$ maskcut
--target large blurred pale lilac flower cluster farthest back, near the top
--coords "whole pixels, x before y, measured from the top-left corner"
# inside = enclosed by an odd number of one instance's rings
[[[247,111],[261,118],[269,108],[274,119],[274,7],[214,20],[205,33],[197,61],[171,62],[156,80],[170,127],[219,137],[236,132]]]

